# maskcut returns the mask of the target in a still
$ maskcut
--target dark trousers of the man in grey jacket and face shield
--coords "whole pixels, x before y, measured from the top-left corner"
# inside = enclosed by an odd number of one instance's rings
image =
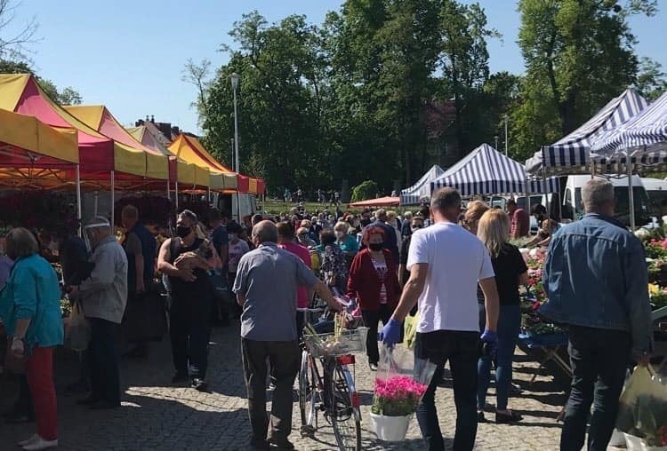
[[[88,345],[88,364],[91,372],[91,397],[120,402],[120,370],[118,368],[118,325],[101,318],[88,318],[91,342]]]

